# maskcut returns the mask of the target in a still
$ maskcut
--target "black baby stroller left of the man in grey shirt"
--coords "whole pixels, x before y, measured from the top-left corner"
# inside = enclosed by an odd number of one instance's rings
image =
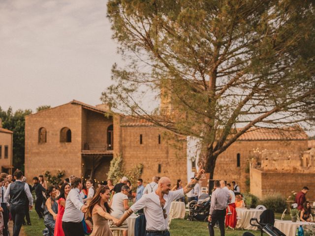
[[[193,219],[198,221],[207,221],[209,210],[210,210],[210,197],[203,200],[200,204],[191,205],[189,203],[189,216],[188,220],[192,221]],[[191,208],[190,208],[191,207]]]

